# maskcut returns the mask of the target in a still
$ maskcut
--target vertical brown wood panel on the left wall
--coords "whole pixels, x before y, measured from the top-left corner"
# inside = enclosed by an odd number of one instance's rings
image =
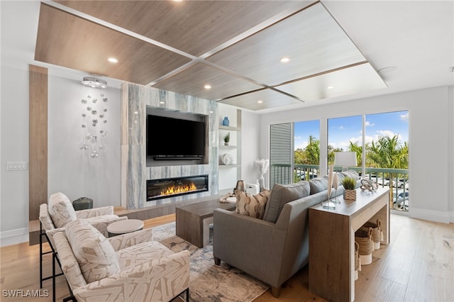
[[[48,69],[29,66],[28,220],[48,200]]]

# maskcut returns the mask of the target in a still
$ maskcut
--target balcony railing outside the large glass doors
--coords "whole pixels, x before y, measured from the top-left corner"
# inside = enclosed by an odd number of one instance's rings
[[[392,209],[409,211],[409,170],[388,168],[365,168],[362,175],[361,167],[344,167],[360,174],[362,179],[370,179],[379,186],[389,187],[389,201]],[[334,166],[334,171],[341,172],[343,167]],[[301,180],[319,177],[319,165],[316,164],[271,164],[270,187],[274,184],[291,184]]]

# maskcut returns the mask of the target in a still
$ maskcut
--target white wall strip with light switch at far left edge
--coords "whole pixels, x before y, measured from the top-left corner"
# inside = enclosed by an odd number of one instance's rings
[[[28,71],[1,67],[1,200],[3,237],[28,240],[28,170],[6,171],[6,162],[28,162]],[[5,232],[7,231],[7,232]]]

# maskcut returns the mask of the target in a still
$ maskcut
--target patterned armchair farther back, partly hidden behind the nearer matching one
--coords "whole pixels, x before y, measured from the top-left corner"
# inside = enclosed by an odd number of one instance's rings
[[[113,206],[75,211],[70,199],[65,194],[52,194],[48,203],[40,205],[40,288],[43,288],[44,280],[52,278],[52,276],[43,278],[43,255],[54,252],[53,234],[63,230],[67,223],[77,219],[87,220],[107,237],[107,225],[118,220],[128,219],[128,217],[114,215]],[[47,238],[51,248],[48,252],[43,252],[43,236]]]

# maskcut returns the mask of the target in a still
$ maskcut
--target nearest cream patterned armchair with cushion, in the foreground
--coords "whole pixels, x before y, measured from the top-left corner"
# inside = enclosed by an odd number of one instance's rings
[[[153,229],[106,238],[84,220],[54,234],[55,250],[77,301],[170,301],[186,293],[189,252],[153,241]]]

